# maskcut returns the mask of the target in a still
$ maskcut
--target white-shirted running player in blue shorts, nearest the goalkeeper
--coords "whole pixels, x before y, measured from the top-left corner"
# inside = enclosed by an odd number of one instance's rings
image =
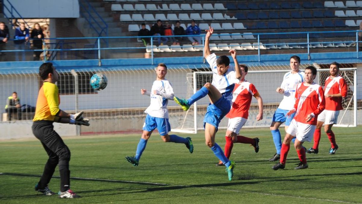
[[[147,116],[143,124],[143,133],[137,146],[136,155],[134,157],[126,156],[126,160],[133,164],[133,166],[138,166],[142,152],[146,148],[147,140],[156,128],[164,142],[183,143],[189,149],[190,153],[194,150],[191,138],[182,138],[177,135],[168,134],[171,127],[168,122],[167,103],[168,100],[173,100],[174,93],[171,83],[165,79],[167,66],[163,63],[158,64],[156,74],[157,78],[156,81],[153,82],[151,91],[141,89],[141,94],[151,97],[151,103],[146,111],[144,111],[147,113]]]

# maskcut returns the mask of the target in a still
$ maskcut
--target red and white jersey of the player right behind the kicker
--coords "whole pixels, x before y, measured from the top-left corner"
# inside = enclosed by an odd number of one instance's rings
[[[235,87],[232,93],[232,105],[227,118],[243,117],[248,119],[249,108],[252,100],[252,96],[258,96],[258,90],[255,86],[244,80],[241,83],[235,83]]]

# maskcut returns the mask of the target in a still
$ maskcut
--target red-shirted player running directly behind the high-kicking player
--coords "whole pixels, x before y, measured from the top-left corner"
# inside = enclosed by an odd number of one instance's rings
[[[256,116],[257,121],[263,119],[263,101],[256,90],[255,86],[245,80],[245,75],[248,73],[248,66],[240,65],[241,77],[240,82],[235,83],[232,94],[232,106],[229,113],[226,115],[229,118],[228,127],[225,135],[226,144],[224,154],[230,158],[233,143],[245,143],[254,146],[255,152],[259,151],[259,138],[248,138],[238,135],[240,129],[248,120],[249,108],[252,97],[258,101],[259,113]],[[216,166],[223,166],[224,164],[219,161]]]

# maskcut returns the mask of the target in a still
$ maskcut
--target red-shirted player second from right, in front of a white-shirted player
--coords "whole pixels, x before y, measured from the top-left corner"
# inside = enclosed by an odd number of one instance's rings
[[[303,148],[303,143],[312,140],[317,125],[317,116],[324,110],[325,99],[322,87],[313,82],[317,75],[317,69],[313,66],[308,66],[304,74],[305,81],[299,83],[296,87],[294,108],[287,113],[288,117],[293,113],[295,113],[295,116],[283,140],[280,163],[275,164],[272,167],[273,170],[285,168],[290,141],[294,137],[296,137],[294,147],[300,160],[295,169],[308,168],[306,150]]]

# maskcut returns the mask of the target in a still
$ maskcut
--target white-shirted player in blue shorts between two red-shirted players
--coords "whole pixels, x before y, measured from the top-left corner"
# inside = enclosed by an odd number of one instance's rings
[[[290,118],[286,117],[288,111],[293,108],[295,103],[295,87],[298,83],[304,82],[304,72],[299,70],[300,58],[298,56],[290,57],[290,69],[291,71],[286,73],[283,77],[283,82],[280,87],[277,88],[279,94],[283,94],[283,100],[280,102],[278,109],[273,115],[273,121],[270,125],[271,135],[273,136],[273,141],[275,149],[277,152],[272,158],[269,159],[270,162],[275,162],[280,159],[280,150],[282,148],[282,138],[279,131],[279,126],[285,122],[285,131],[288,129],[291,120],[293,119],[292,115]]]

